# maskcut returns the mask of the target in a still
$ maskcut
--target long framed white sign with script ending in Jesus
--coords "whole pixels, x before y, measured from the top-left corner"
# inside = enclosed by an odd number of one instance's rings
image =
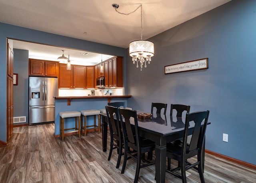
[[[164,74],[172,74],[175,72],[186,72],[200,69],[208,69],[208,58],[164,66]]]

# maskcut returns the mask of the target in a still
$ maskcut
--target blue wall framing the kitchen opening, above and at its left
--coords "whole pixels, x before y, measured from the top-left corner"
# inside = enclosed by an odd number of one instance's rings
[[[98,44],[94,42],[69,38],[56,34],[50,34],[28,28],[13,26],[10,24],[0,23],[0,141],[6,142],[6,38],[26,40],[30,42],[74,48],[91,52],[99,52],[115,56],[122,56],[123,64],[126,66],[126,49]],[[126,68],[123,69],[123,83],[126,86]]]

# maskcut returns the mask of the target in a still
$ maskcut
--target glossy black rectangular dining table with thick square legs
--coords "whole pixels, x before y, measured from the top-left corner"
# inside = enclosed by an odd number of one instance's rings
[[[143,111],[137,111],[139,114],[150,114]],[[108,119],[106,113],[100,113],[102,116],[102,150],[107,150]],[[138,117],[138,130],[141,137],[145,137],[155,142],[155,166],[156,182],[165,182],[166,169],[166,143],[180,139],[184,135],[186,115],[176,117],[171,115],[153,113],[148,118]],[[190,121],[188,134],[193,133],[194,124]],[[203,124],[203,123],[202,123]],[[210,122],[207,123],[209,125]],[[202,159],[204,160],[204,148],[202,148]]]

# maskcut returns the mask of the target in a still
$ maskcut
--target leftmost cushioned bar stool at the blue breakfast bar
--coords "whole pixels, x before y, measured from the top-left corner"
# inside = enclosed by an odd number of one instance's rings
[[[66,133],[72,133],[72,132],[78,132],[78,137],[80,137],[80,116],[81,113],[79,111],[64,111],[64,112],[60,112],[60,135],[61,135],[61,139],[62,141],[64,140],[64,133],[67,130],[72,130],[73,131],[68,131]],[[74,128],[64,128],[64,118],[68,118],[68,117],[75,117],[75,127]],[[77,127],[77,118],[78,118],[78,127]]]

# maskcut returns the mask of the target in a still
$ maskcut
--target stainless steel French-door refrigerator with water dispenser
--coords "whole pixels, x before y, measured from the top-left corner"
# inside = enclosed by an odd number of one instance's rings
[[[55,120],[58,78],[29,77],[29,125]]]

